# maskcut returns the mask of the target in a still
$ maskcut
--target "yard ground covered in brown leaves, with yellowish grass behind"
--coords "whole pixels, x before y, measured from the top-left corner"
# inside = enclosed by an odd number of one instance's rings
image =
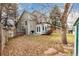
[[[74,36],[67,35],[68,45],[61,43],[60,35],[24,35],[9,39],[4,48],[3,54],[10,56],[70,56],[73,55]]]

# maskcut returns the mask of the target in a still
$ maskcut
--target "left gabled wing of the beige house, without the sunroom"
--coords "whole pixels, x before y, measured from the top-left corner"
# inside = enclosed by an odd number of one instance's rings
[[[24,11],[17,22],[17,32],[27,35],[35,34],[36,17]]]

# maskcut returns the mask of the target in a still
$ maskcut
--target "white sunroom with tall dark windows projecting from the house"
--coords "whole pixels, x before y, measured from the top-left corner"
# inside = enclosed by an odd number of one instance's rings
[[[36,34],[50,34],[49,31],[51,30],[51,25],[48,23],[40,23],[36,25]]]

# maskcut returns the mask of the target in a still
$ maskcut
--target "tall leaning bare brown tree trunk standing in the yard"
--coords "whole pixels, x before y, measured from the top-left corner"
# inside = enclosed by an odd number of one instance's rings
[[[61,24],[62,24],[62,26],[61,26],[61,29],[62,29],[61,35],[62,35],[63,44],[67,44],[67,36],[66,36],[67,18],[68,18],[68,15],[69,15],[71,9],[72,9],[72,4],[66,3],[64,5],[64,12],[63,12],[63,14],[61,16],[61,19],[60,19]]]

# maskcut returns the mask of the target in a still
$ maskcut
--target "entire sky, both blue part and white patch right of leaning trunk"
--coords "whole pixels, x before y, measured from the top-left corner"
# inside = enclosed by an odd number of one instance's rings
[[[64,4],[63,3],[20,3],[18,5],[19,7],[19,13],[21,14],[24,10],[28,11],[28,12],[33,12],[34,10],[37,10],[43,14],[46,14],[47,16],[49,16],[49,13],[51,11],[51,9],[53,9],[53,7],[57,5],[59,6],[59,8],[63,9],[64,8]],[[77,17],[79,17],[79,3],[74,3],[73,4],[73,8],[72,8],[72,14],[74,15],[72,17],[72,15],[70,15],[68,17],[68,25],[69,27],[72,28],[73,26],[73,22],[74,19],[76,20]]]

